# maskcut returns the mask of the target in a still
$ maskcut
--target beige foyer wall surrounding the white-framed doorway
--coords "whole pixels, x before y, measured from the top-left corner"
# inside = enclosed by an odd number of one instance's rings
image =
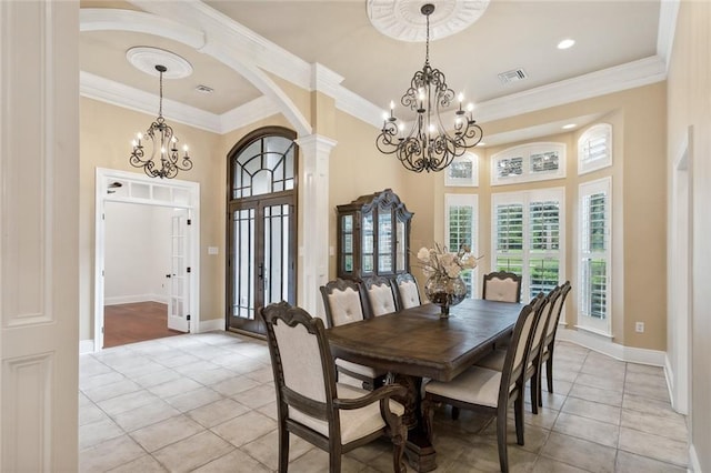
[[[94,185],[96,169],[142,172],[129,164],[131,138],[144,131],[156,117],[82,98],[80,101],[80,340],[93,339]],[[200,315],[223,316],[224,265],[222,255],[207,254],[207,248],[224,248],[224,154],[214,133],[168,120],[182,143],[190,147],[194,168],[177,179],[200,183]],[[150,235],[141,235],[150,238]],[[220,252],[222,253],[222,251]]]

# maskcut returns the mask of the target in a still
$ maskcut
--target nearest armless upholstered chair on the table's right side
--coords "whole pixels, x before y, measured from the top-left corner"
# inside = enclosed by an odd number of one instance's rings
[[[509,471],[507,446],[507,419],[509,405],[513,403],[517,443],[523,445],[523,372],[530,355],[531,339],[540,305],[535,298],[521,309],[513,329],[511,349],[508,350],[502,371],[473,365],[449,382],[430,381],[424,385],[422,415],[427,433],[433,439],[434,405],[444,403],[453,409],[483,411],[497,416],[497,441],[499,464],[502,472]]]

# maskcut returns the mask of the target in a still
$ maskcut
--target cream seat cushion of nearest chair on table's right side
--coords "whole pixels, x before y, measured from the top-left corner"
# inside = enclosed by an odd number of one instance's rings
[[[471,366],[452,381],[430,381],[424,386],[424,392],[470,404],[495,407],[499,401],[500,384],[500,371]]]

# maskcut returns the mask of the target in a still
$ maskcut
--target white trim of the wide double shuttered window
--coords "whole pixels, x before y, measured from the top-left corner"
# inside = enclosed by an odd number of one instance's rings
[[[559,273],[558,281],[559,284],[565,281],[565,188],[549,188],[549,189],[538,189],[530,191],[520,191],[520,192],[499,192],[493,193],[491,195],[491,262],[490,268],[493,269],[497,266],[497,255],[504,254],[497,252],[497,204],[507,204],[507,203],[521,203],[523,204],[523,251],[522,255],[522,268],[525,268],[527,272],[524,273],[523,280],[521,281],[521,302],[528,302],[528,294],[530,292],[529,288],[529,279],[525,275],[528,274],[530,268],[530,251],[529,251],[529,213],[528,207],[531,201],[540,201],[540,200],[557,200],[559,202],[559,249],[555,252],[558,254],[559,261]]]

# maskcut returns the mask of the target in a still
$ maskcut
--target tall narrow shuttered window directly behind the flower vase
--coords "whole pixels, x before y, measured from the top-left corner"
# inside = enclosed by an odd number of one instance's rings
[[[455,252],[463,245],[477,256],[477,218],[479,203],[474,194],[444,194],[444,241],[449,251]],[[477,295],[477,269],[462,273],[467,283],[467,296]]]

